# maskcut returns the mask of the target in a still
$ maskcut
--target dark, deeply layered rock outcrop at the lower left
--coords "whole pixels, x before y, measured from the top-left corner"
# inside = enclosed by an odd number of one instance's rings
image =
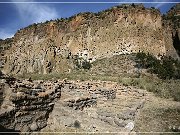
[[[15,80],[6,83],[0,109],[0,125],[7,131],[38,131],[47,125],[61,87],[43,81]]]

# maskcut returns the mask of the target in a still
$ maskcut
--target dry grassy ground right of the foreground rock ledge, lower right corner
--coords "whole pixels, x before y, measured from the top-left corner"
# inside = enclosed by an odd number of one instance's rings
[[[180,103],[149,95],[149,100],[136,118],[135,125],[137,132],[176,133],[171,127],[180,126]]]

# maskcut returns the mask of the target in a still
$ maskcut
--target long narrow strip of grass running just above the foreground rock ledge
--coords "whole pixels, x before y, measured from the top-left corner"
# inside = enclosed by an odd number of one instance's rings
[[[151,76],[141,76],[139,78],[124,75],[97,75],[90,74],[86,71],[74,71],[72,73],[59,74],[26,74],[18,75],[18,78],[28,79],[31,77],[32,80],[57,80],[57,79],[68,79],[68,80],[101,80],[101,81],[113,81],[123,84],[125,86],[134,86],[140,89],[145,89],[149,92],[155,93],[155,95],[163,98],[173,98],[175,101],[180,101],[180,80],[162,80]]]

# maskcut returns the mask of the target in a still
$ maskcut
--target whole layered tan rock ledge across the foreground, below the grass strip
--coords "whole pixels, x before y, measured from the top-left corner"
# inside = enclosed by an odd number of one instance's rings
[[[0,81],[0,90],[0,129],[6,132],[74,130],[76,120],[84,131],[94,126],[91,132],[122,132],[129,123],[134,127],[147,95],[144,90],[111,81],[5,78]]]

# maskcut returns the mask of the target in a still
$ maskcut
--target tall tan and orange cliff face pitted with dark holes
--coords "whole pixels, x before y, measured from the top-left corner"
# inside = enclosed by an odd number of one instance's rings
[[[177,58],[172,27],[167,26],[158,10],[142,5],[123,5],[97,14],[33,24],[15,34],[3,72],[68,72],[74,67],[75,56],[94,61],[144,51]]]

